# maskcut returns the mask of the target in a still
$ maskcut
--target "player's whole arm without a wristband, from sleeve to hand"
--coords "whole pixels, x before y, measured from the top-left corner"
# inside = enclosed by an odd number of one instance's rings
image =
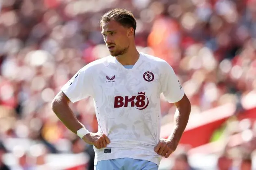
[[[174,129],[170,132],[171,135],[167,139],[160,139],[154,151],[158,155],[169,157],[176,150],[187,126],[191,104],[173,68],[167,62],[163,62],[161,68],[163,68],[161,92],[168,102],[176,105],[177,110],[174,115]]]

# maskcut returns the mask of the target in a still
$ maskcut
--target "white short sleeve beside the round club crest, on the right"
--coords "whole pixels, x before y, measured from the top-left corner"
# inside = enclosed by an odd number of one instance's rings
[[[167,63],[162,63],[161,92],[170,103],[180,101],[184,96],[184,90],[173,68]]]

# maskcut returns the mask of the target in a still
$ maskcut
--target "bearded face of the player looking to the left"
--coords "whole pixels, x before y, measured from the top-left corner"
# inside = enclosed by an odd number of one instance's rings
[[[102,23],[102,35],[106,46],[112,56],[122,55],[127,52],[130,41],[131,28],[122,26],[117,21]]]

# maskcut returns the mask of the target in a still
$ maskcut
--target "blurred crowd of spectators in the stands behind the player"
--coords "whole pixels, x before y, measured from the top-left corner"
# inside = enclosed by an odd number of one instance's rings
[[[191,115],[226,103],[235,104],[237,112],[256,106],[256,0],[4,0],[3,143],[29,139],[43,144],[41,155],[90,150],[57,119],[51,101],[85,64],[109,55],[99,21],[112,8],[135,15],[139,51],[174,68],[191,101]],[[167,123],[175,107],[161,100]],[[72,110],[87,129],[97,132],[91,98],[72,104]],[[19,157],[28,152],[6,147]],[[29,151],[33,149],[38,147]],[[43,164],[40,159],[33,162]]]

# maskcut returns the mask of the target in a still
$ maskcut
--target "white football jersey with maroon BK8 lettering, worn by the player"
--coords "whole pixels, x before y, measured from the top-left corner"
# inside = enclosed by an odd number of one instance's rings
[[[126,69],[115,57],[104,57],[80,69],[61,90],[71,102],[93,97],[99,132],[111,141],[104,149],[94,147],[95,164],[128,157],[159,166],[154,147],[160,139],[160,94],[171,103],[184,96],[165,60],[140,53],[133,68]]]

